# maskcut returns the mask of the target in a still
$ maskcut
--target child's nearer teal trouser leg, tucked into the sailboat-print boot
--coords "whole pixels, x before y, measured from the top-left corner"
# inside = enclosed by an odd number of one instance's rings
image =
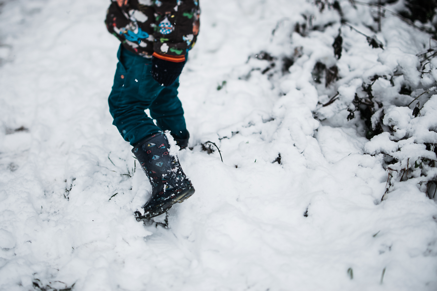
[[[118,50],[114,86],[108,98],[109,111],[121,136],[135,144],[160,131],[144,110],[164,88],[152,79],[150,60],[127,51]]]

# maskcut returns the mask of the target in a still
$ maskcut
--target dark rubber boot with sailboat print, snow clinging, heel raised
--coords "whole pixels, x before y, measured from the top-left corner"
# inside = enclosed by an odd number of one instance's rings
[[[138,221],[163,214],[176,202],[183,202],[194,194],[191,181],[176,157],[169,154],[170,145],[163,132],[142,140],[132,153],[152,184],[152,197],[142,208],[144,215],[135,212]]]

